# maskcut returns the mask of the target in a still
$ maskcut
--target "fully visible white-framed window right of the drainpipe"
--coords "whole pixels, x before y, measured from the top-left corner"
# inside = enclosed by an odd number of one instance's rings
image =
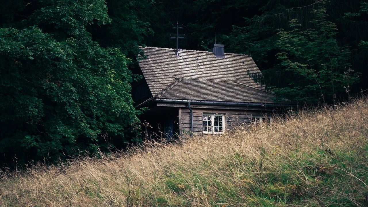
[[[225,130],[225,115],[203,113],[202,120],[204,134],[222,134]]]

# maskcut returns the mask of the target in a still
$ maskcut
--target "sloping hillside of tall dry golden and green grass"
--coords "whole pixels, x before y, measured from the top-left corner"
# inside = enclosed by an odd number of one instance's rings
[[[368,205],[368,99],[273,120],[3,173],[0,206]]]

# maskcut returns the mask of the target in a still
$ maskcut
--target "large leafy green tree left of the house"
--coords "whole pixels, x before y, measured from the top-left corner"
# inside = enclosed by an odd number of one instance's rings
[[[134,141],[129,60],[87,31],[111,22],[105,1],[17,5],[0,28],[0,161],[55,161]]]

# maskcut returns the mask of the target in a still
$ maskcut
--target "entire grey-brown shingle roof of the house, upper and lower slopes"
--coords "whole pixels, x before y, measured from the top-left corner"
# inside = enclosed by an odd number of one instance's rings
[[[198,50],[142,48],[147,56],[139,61],[153,97],[205,101],[273,103],[276,96],[255,83],[248,73],[261,73],[252,57]],[[279,103],[279,102],[278,102]]]

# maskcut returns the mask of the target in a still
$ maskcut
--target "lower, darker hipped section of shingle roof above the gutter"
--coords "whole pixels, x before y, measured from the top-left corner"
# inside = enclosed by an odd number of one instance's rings
[[[276,95],[244,84],[221,80],[177,80],[156,96],[161,99],[274,103]],[[287,101],[278,103],[287,104]]]

